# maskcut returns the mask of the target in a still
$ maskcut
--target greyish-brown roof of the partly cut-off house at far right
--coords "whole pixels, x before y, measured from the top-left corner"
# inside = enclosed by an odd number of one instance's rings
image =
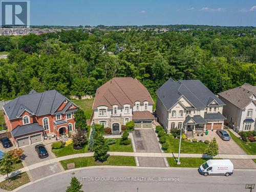
[[[244,109],[253,100],[251,95],[256,95],[256,86],[244,83],[242,86],[218,93],[219,96]],[[255,102],[255,101],[254,101]],[[255,102],[256,104],[256,102]]]

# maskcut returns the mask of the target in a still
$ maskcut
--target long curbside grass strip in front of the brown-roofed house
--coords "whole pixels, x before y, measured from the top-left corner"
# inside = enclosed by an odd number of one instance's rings
[[[79,157],[60,161],[61,165],[67,170],[68,163],[75,163],[75,168],[87,166],[100,166],[100,165],[116,165],[116,166],[136,166],[134,157],[127,156],[110,156],[108,160],[103,163],[97,163],[93,157]]]

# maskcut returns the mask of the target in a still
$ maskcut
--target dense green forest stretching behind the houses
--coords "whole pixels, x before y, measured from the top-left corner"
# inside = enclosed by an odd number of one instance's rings
[[[0,99],[56,89],[94,95],[113,77],[136,77],[155,96],[168,79],[199,79],[218,93],[256,86],[256,28],[61,31],[0,36]]]

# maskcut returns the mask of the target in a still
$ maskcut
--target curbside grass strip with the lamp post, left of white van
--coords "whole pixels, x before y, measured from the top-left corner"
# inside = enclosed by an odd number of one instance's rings
[[[178,157],[176,157],[178,161]],[[208,158],[187,158],[181,157],[180,158],[180,165],[177,165],[177,162],[173,157],[167,157],[167,161],[170,167],[199,167],[205,161],[209,160]]]

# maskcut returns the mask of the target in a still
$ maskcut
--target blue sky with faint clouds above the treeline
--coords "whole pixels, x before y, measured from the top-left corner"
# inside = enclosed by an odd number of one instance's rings
[[[256,0],[30,0],[31,25],[256,26]]]

